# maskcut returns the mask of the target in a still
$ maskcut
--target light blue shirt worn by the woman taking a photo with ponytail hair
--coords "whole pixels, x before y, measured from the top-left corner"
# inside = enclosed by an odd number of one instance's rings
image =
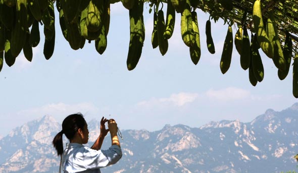
[[[62,156],[62,169],[65,173],[101,173],[101,167],[115,164],[121,157],[122,151],[118,145],[97,151],[78,143],[67,143]]]

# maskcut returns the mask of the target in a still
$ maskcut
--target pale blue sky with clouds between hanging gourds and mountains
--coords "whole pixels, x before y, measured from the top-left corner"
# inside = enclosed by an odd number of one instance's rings
[[[292,95],[292,69],[280,81],[272,60],[261,49],[265,75],[256,87],[249,81],[248,70],[241,69],[235,46],[230,69],[223,75],[219,63],[228,26],[221,19],[211,22],[216,53],[209,53],[205,34],[209,15],[200,9],[196,10],[202,49],[198,64],[191,62],[189,48],[182,41],[177,13],[168,51],[161,55],[158,48],[152,48],[153,13],[149,9],[145,4],[145,41],[132,71],[126,67],[129,11],[121,3],[111,5],[108,46],[102,55],[93,41],[83,49],[71,49],[55,9],[56,43],[51,59],[43,56],[43,26],[39,26],[41,40],[33,48],[32,62],[21,53],[15,65],[5,64],[0,72],[0,137],[45,115],[62,123],[69,114],[81,112],[87,122],[104,116],[115,119],[120,129],[156,131],[165,125],[251,122],[269,108],[280,111],[297,102]]]

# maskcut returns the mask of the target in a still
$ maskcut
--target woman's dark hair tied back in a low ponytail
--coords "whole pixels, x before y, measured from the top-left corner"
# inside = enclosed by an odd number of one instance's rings
[[[53,145],[56,148],[58,155],[63,154],[62,135],[65,134],[67,139],[71,140],[79,129],[83,130],[85,125],[86,121],[81,113],[71,114],[63,120],[62,131],[53,139]]]

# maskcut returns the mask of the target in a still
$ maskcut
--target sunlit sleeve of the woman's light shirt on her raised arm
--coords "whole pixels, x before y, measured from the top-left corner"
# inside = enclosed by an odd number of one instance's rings
[[[96,169],[115,164],[122,157],[122,150],[117,145],[112,145],[108,150],[86,149],[84,163],[87,169]]]

